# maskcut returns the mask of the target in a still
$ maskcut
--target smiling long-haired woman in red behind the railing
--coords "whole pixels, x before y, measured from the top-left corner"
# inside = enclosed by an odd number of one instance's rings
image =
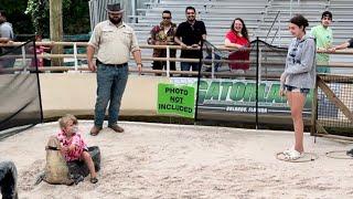
[[[249,70],[249,51],[244,48],[248,48],[250,44],[247,29],[243,19],[236,18],[231,27],[231,30],[226,33],[224,45],[227,48],[235,48],[236,51],[232,52],[228,56],[231,61],[238,61],[236,63],[229,63],[232,72],[244,74]],[[244,63],[245,62],[245,63]]]

